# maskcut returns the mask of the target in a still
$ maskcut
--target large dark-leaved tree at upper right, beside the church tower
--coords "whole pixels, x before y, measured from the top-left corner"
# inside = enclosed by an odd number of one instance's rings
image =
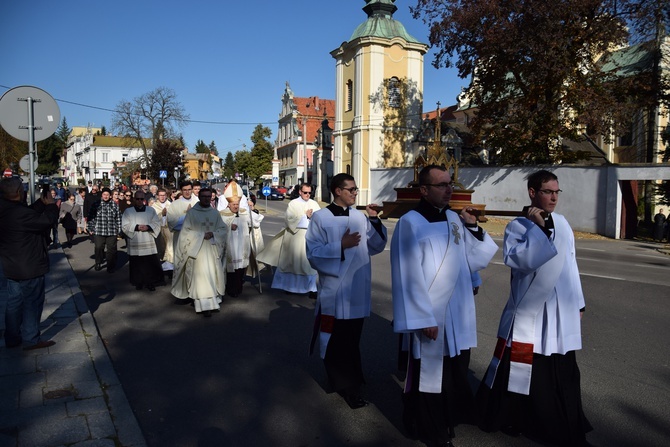
[[[587,126],[607,134],[632,116],[633,84],[599,69],[601,55],[626,44],[629,3],[418,0],[411,9],[430,26],[433,65],[471,77],[477,141],[501,149],[503,163],[552,163],[569,161],[563,138]]]

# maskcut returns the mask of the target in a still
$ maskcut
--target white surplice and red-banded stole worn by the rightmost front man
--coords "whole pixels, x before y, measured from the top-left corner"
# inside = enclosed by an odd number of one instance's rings
[[[505,228],[503,257],[512,269],[510,296],[498,337],[512,349],[508,390],[529,394],[532,354],[565,354],[582,348],[580,309],[584,304],[575,240],[570,224],[552,213],[551,237],[520,217]],[[520,355],[526,352],[528,355]],[[516,360],[516,361],[515,361]],[[485,376],[491,387],[500,358]]]

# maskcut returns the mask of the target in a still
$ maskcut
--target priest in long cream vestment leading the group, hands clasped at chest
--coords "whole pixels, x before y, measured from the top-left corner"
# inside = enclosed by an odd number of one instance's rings
[[[200,190],[200,201],[186,213],[175,251],[172,295],[192,299],[195,311],[209,317],[225,293],[223,270],[227,228],[212,208],[212,191]]]

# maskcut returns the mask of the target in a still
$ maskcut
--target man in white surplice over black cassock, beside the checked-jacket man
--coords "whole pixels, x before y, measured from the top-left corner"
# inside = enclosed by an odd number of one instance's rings
[[[126,208],[121,218],[121,229],[127,238],[130,283],[137,290],[153,292],[163,285],[163,269],[158,259],[156,237],[161,231],[160,217],[145,204],[145,193],[135,193],[134,205]]]

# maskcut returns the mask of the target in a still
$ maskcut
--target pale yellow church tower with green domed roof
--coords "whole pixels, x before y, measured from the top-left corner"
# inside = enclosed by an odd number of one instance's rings
[[[333,170],[354,176],[358,204],[371,198],[371,169],[412,166],[428,50],[393,19],[395,0],[365,3],[367,20],[330,53],[336,60]]]

